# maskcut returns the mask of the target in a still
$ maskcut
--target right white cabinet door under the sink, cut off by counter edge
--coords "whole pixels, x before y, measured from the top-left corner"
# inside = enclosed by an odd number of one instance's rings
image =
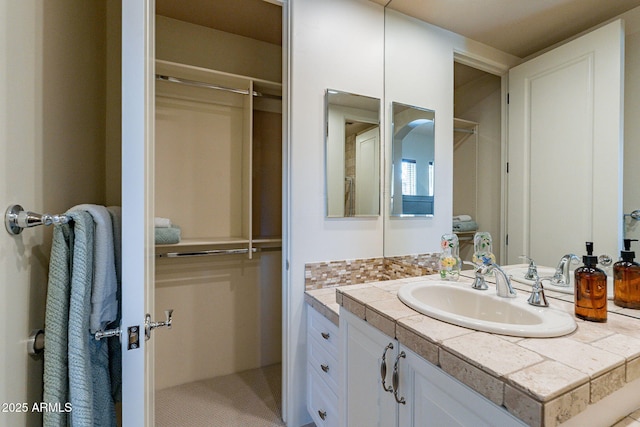
[[[400,352],[399,394],[407,402],[399,405],[401,427],[526,425],[411,350]]]

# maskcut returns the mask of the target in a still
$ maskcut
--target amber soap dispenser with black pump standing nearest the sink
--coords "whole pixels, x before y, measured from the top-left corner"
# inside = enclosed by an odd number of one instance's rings
[[[592,322],[607,321],[607,274],[597,267],[598,257],[593,255],[593,242],[587,242],[587,255],[583,266],[574,273],[576,291],[576,317]]]

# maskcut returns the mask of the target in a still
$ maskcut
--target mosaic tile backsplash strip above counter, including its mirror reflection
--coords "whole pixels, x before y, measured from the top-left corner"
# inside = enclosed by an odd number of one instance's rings
[[[439,254],[367,258],[305,264],[305,289],[424,276],[438,271]]]

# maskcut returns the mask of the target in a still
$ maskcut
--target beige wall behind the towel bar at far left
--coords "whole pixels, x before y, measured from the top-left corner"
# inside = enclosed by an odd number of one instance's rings
[[[0,209],[60,213],[105,202],[105,2],[0,2]],[[4,227],[3,227],[4,228]],[[0,231],[0,402],[40,402],[51,230]],[[0,413],[0,426],[39,414]]]

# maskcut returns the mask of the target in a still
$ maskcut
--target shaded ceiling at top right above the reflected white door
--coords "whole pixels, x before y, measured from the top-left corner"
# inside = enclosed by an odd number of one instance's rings
[[[525,58],[640,6],[640,0],[372,0]]]

